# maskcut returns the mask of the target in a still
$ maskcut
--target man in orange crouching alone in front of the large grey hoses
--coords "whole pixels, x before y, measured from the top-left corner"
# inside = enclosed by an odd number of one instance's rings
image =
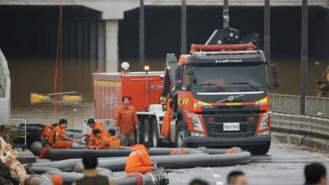
[[[148,151],[152,146],[150,141],[144,141],[142,144],[136,144],[133,151],[129,154],[127,159],[125,171],[130,173],[146,174],[152,171],[153,165],[157,164],[152,162],[148,156]]]

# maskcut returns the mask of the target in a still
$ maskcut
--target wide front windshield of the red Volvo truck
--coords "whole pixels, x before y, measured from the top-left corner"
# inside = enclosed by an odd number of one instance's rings
[[[193,89],[258,91],[267,86],[263,62],[193,64],[191,68],[195,69],[191,75]]]

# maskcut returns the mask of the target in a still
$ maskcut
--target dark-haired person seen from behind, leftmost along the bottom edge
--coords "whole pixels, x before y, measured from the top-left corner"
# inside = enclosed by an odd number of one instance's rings
[[[84,164],[84,178],[73,182],[72,185],[116,185],[109,177],[97,174],[96,166],[98,164],[96,154],[92,151],[85,152],[82,156]]]

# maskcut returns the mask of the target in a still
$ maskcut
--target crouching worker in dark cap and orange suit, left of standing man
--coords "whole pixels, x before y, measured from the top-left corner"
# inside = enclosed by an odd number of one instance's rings
[[[88,148],[88,146],[93,146],[96,141],[98,140],[98,138],[93,134],[93,131],[95,129],[98,129],[101,133],[101,137],[107,137],[107,133],[106,130],[104,129],[103,123],[101,122],[97,122],[95,123],[95,120],[93,118],[89,119],[87,122],[87,125],[89,125],[90,128],[92,128],[92,133],[91,134],[84,134],[83,136],[87,137],[86,140],[86,148]]]

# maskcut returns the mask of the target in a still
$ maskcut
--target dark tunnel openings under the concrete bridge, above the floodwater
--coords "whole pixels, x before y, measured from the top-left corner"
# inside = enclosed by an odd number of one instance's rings
[[[327,56],[328,10],[309,7],[309,56]],[[0,6],[0,48],[7,57],[50,57],[56,55],[59,6]],[[63,7],[63,57],[97,57],[101,12],[83,6]],[[145,56],[161,58],[166,52],[179,54],[181,9],[145,7]],[[204,44],[215,29],[222,29],[222,6],[187,8],[187,39]],[[97,26],[98,25],[98,26]],[[230,7],[230,27],[240,36],[257,31],[263,43],[264,7]],[[138,58],[139,8],[125,12],[119,21],[119,57]],[[271,7],[271,56],[300,57],[301,6]]]

